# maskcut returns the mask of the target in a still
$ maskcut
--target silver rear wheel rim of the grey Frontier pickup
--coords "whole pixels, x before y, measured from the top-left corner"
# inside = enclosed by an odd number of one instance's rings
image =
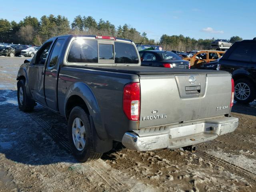
[[[82,151],[86,143],[85,128],[84,123],[78,117],[74,119],[72,124],[72,138],[76,149]]]

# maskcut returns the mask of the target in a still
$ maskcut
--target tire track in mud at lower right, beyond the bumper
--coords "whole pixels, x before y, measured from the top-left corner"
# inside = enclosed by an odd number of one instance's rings
[[[246,178],[249,178],[251,180],[254,181],[254,183],[256,183],[256,174],[250,172],[249,170],[246,170],[238,165],[235,165],[233,163],[230,163],[226,160],[223,160],[222,158],[218,158],[216,156],[210,155],[206,152],[203,151],[197,151],[195,152],[196,155],[201,156],[202,158],[204,158],[205,160],[210,161],[212,164],[216,165],[216,166],[223,166],[224,168],[228,169],[228,170],[232,170],[234,171],[236,174],[238,175],[242,175]]]

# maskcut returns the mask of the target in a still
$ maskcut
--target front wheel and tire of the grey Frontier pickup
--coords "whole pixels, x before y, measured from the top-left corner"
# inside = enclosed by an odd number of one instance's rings
[[[28,112],[34,109],[36,103],[26,94],[25,80],[19,80],[17,83],[18,106],[21,111]]]

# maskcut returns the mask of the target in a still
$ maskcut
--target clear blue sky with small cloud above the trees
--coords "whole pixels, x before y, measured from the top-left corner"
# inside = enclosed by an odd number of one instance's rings
[[[77,15],[109,20],[116,27],[125,23],[159,40],[162,34],[191,38],[226,38],[256,36],[254,0],[4,0],[0,18],[19,22],[31,15],[66,16],[70,22]]]

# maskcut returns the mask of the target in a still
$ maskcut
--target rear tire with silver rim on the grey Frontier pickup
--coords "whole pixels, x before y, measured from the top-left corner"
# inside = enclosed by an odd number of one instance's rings
[[[70,149],[80,162],[97,160],[102,156],[93,150],[92,131],[88,114],[79,106],[74,107],[68,118]]]

